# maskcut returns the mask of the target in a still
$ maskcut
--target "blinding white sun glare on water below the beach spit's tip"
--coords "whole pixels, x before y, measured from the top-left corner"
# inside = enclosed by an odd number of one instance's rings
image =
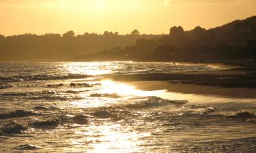
[[[132,99],[135,97],[160,97],[160,95],[165,95],[166,92],[166,90],[139,90],[136,88],[136,86],[130,86],[122,82],[114,82],[111,80],[103,80],[101,82],[94,83],[100,83],[100,88],[81,92],[79,94],[79,97],[82,97],[83,99],[78,101],[72,101],[72,105],[74,105],[74,107],[104,107],[107,105],[126,103],[128,99]],[[98,97],[91,96],[94,94],[98,95]]]

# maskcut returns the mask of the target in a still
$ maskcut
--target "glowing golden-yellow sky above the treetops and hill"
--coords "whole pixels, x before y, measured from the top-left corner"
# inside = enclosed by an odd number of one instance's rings
[[[0,33],[169,33],[256,15],[256,0],[0,0]]]

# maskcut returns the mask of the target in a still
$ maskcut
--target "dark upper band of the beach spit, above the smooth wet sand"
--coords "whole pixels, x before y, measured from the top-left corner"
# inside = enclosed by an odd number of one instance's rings
[[[189,65],[189,63],[186,64]],[[227,69],[216,71],[174,71],[169,73],[111,73],[102,75],[102,77],[121,82],[168,81],[171,84],[193,84],[198,86],[221,86],[223,88],[242,89],[256,88],[256,67],[228,66],[221,63],[218,65],[212,64],[212,67],[223,67]]]

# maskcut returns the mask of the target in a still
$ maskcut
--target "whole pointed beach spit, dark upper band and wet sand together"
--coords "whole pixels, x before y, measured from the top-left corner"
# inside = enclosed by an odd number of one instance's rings
[[[233,67],[219,71],[104,75],[141,90],[167,90],[184,94],[217,95],[256,99],[256,67]]]

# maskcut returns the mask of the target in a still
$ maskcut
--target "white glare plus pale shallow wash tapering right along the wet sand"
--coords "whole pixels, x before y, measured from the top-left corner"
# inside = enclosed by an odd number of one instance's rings
[[[162,99],[169,100],[187,100],[190,104],[203,104],[203,103],[227,103],[232,101],[251,103],[255,99],[240,99],[233,97],[220,97],[218,95],[197,95],[197,94],[185,94],[180,92],[169,92],[168,90],[140,90],[137,86],[131,86],[125,82],[114,82],[112,80],[102,80],[100,82],[100,88],[94,88],[92,90],[79,93],[79,97],[82,100],[72,101],[74,107],[87,108],[87,107],[104,107],[106,105],[115,105],[128,103],[129,99],[136,97],[160,97]],[[170,86],[171,88],[171,86]],[[93,94],[102,95],[99,97],[91,97]]]

